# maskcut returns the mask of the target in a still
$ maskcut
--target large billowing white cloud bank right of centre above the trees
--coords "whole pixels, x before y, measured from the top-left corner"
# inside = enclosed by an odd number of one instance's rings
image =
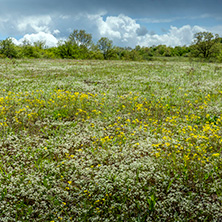
[[[151,34],[148,30],[144,30],[144,34],[141,35],[140,30],[143,30],[143,27],[128,16],[108,16],[106,19],[102,15],[88,17],[97,25],[100,36],[112,39],[118,46],[189,45],[195,33],[206,31],[200,26],[185,25],[180,28],[171,26],[163,35]]]

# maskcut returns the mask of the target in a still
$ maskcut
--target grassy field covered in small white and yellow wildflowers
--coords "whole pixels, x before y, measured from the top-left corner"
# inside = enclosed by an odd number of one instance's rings
[[[0,60],[0,221],[222,221],[222,65]]]

